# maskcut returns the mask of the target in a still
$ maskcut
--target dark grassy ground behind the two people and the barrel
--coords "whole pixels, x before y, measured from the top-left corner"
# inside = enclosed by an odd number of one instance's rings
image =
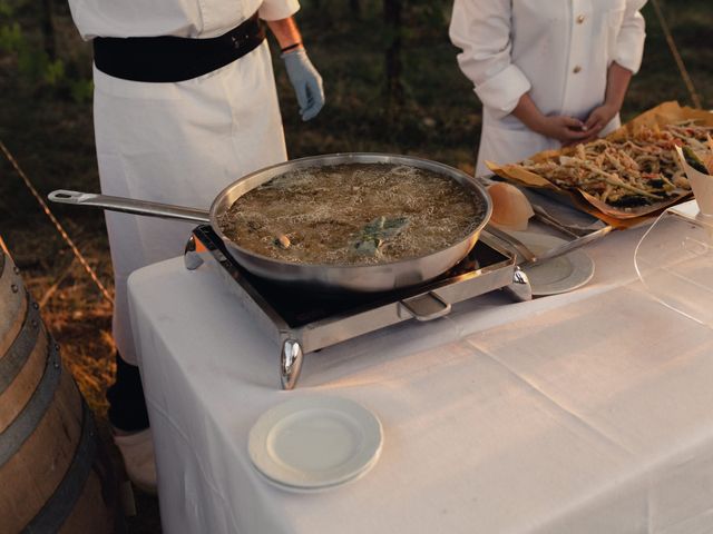
[[[448,41],[448,2],[442,2],[442,14],[431,13],[428,22],[410,20],[404,43],[407,102],[391,121],[387,120],[381,91],[384,32],[380,2],[363,1],[360,19],[350,16],[348,2],[319,3],[320,9],[315,0],[304,1],[297,17],[328,97],[314,121],[300,121],[284,70],[275,61],[291,157],[382,151],[422,156],[472,171],[480,110]],[[661,4],[704,106],[713,108],[713,46],[709,39],[713,4],[710,0]],[[38,26],[33,9],[21,3],[17,12],[30,41]],[[76,34],[67,8],[58,6],[57,10],[59,56],[67,59],[71,76],[88,78],[90,49]],[[665,100],[691,103],[651,6],[644,14],[648,22],[646,51],[623,110],[625,120]],[[0,140],[41,196],[58,188],[98,190],[90,101],[78,102],[71,89],[23,75],[16,53],[0,56]],[[51,209],[111,290],[101,214],[56,205]],[[98,418],[106,422],[104,394],[114,373],[111,306],[2,155],[0,236],[42,304],[43,319],[62,346],[65,362]],[[129,531],[159,532],[157,511],[155,498],[139,496],[138,516],[130,520]]]

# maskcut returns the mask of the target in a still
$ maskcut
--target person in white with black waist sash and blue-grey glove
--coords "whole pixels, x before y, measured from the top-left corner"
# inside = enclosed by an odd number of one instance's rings
[[[208,208],[228,184],[286,159],[266,21],[300,112],[324,102],[292,19],[297,0],[69,0],[95,51],[101,191]],[[129,477],[155,487],[153,443],[128,315],[129,274],[182,254],[194,225],[107,212],[115,274],[117,380],[109,421]],[[143,432],[141,432],[143,431]]]

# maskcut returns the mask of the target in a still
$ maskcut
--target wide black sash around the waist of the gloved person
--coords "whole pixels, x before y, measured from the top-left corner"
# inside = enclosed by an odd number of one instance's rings
[[[257,12],[219,37],[97,37],[94,62],[101,72],[133,81],[184,81],[242,58],[265,39]]]

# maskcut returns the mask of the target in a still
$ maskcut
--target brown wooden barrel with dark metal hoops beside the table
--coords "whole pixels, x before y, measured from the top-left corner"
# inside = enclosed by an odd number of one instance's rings
[[[0,531],[116,532],[113,465],[38,308],[0,250]]]

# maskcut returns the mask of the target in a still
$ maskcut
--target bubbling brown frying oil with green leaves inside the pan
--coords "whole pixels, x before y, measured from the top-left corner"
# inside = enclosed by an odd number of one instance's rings
[[[462,240],[484,200],[431,170],[344,164],[277,176],[238,198],[226,237],[282,261],[369,265],[426,256]]]

